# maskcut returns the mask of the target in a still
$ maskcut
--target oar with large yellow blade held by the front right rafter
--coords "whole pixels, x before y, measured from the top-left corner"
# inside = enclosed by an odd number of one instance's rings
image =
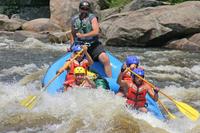
[[[128,70],[131,73],[133,73],[134,75],[136,75],[137,77],[139,77],[140,79],[142,79],[144,82],[149,84],[151,87],[155,88],[155,86],[153,84],[149,83],[147,80],[145,80],[144,78],[142,78],[141,76],[139,76],[135,72],[131,71],[129,68],[128,68]],[[191,107],[190,105],[188,105],[186,103],[176,101],[175,99],[173,99],[172,97],[168,96],[167,94],[165,94],[161,90],[159,90],[159,92],[162,95],[164,95],[165,97],[167,97],[169,100],[171,100],[176,105],[176,107],[179,109],[179,111],[182,112],[186,117],[188,117],[192,121],[196,121],[196,120],[199,119],[200,113],[196,109],[194,109],[193,107]]]

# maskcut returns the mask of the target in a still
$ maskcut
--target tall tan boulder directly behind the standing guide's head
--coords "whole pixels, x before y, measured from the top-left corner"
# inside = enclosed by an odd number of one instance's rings
[[[71,27],[71,17],[78,13],[80,0],[50,0],[51,21],[69,30]],[[98,0],[90,0],[96,12],[99,11]]]

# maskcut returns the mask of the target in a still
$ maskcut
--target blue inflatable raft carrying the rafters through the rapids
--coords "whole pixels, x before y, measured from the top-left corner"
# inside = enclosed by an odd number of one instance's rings
[[[57,59],[47,70],[46,74],[43,78],[43,85],[47,85],[48,82],[56,75],[56,71],[61,68],[65,61],[68,60],[71,57],[71,52],[68,52],[61,58]],[[110,90],[114,91],[115,93],[118,92],[119,85],[116,83],[117,77],[119,75],[122,62],[118,60],[116,57],[114,57],[110,52],[107,52],[107,55],[110,58],[111,67],[112,67],[112,78],[107,78],[106,74],[103,69],[103,65],[99,62],[95,62],[92,66],[90,66],[90,71],[97,72],[101,77],[105,78],[110,86]],[[60,90],[63,88],[63,83],[65,81],[66,71],[63,72],[59,77],[57,77],[54,82],[52,82],[49,87],[47,88],[47,92],[50,94],[55,94],[57,92],[60,92]],[[148,104],[148,111],[150,111],[153,115],[155,115],[158,119],[165,119],[165,116],[162,114],[158,104],[147,94],[147,104]]]

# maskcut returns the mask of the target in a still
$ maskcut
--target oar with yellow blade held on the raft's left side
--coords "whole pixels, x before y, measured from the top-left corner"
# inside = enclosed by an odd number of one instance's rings
[[[69,64],[75,60],[81,53],[83,52],[83,50],[81,50],[80,52],[78,52],[69,62]],[[41,89],[41,92],[45,91],[49,85],[60,75],[61,73],[57,73],[56,76],[54,76],[45,87],[43,87]],[[39,96],[33,96],[30,95],[27,98],[23,99],[20,101],[20,104],[28,109],[32,109],[33,106],[36,104],[37,100],[41,97],[42,93]]]

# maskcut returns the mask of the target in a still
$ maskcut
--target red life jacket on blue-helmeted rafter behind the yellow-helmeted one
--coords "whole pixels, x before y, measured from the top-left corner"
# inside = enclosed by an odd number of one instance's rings
[[[70,61],[70,60],[69,60]],[[84,69],[88,68],[88,61],[86,59],[84,59],[83,61],[81,61],[80,63],[77,60],[74,60],[71,65],[70,65],[70,69],[68,70],[68,73],[66,75],[65,80],[74,80],[74,69],[78,66],[83,67]]]

